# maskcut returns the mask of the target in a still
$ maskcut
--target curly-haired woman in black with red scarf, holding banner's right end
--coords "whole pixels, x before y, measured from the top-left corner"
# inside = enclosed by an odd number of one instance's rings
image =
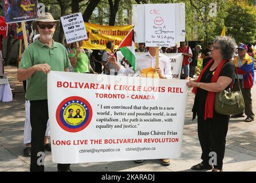
[[[217,37],[211,49],[211,61],[204,67],[197,81],[190,79],[188,87],[194,87],[196,94],[192,109],[193,120],[198,116],[198,137],[202,148],[202,162],[192,166],[192,170],[208,169],[222,171],[225,155],[229,115],[214,110],[215,94],[228,90],[235,78],[235,65],[230,62],[236,50],[235,40],[230,37]],[[212,157],[212,155],[215,156]],[[216,163],[212,167],[212,158]]]

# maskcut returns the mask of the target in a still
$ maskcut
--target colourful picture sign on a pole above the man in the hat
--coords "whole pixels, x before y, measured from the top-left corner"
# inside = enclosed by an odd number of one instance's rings
[[[2,5],[6,23],[17,23],[37,19],[37,0],[2,0]]]

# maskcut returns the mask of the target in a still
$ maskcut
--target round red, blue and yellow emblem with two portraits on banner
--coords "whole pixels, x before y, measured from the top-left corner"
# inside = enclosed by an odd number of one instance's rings
[[[66,98],[58,105],[56,120],[66,132],[80,132],[92,120],[92,107],[84,98]]]

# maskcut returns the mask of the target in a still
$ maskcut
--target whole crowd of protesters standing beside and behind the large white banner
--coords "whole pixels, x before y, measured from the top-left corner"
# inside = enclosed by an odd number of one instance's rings
[[[144,43],[137,45],[136,51],[145,54],[136,57],[136,71],[132,67],[124,67],[116,61],[113,42],[109,41],[105,50],[82,49],[82,42],[64,44],[53,41],[53,34],[60,25],[59,21],[53,19],[49,13],[33,22],[33,26],[40,33],[34,38],[34,43],[23,53],[19,64],[18,79],[27,81],[26,86],[26,123],[31,126],[26,129],[24,137],[31,139],[24,141],[26,148],[25,156],[31,156],[31,171],[44,171],[44,165],[37,164],[37,153],[44,152],[44,149],[51,150],[46,130],[48,117],[48,98],[46,95],[46,74],[50,70],[71,71],[75,73],[92,73],[107,75],[128,75],[141,73],[148,67],[156,67],[155,47],[145,47]],[[52,55],[44,54],[48,50]],[[40,51],[39,51],[40,50]],[[202,51],[202,52],[201,52]],[[230,37],[217,37],[213,43],[208,43],[206,49],[197,45],[193,48],[180,42],[174,47],[161,47],[159,50],[159,67],[155,68],[158,78],[171,79],[171,66],[168,57],[163,53],[182,53],[182,76],[187,79],[187,86],[193,87],[195,102],[192,109],[193,118],[198,117],[198,136],[202,148],[202,162],[192,166],[191,169],[202,170],[212,169],[213,172],[222,171],[223,158],[225,156],[226,135],[230,116],[215,112],[212,107],[214,96],[217,92],[232,89],[238,90],[238,83],[242,87],[242,94],[245,100],[245,121],[254,121],[253,106],[251,101],[251,87],[254,85],[254,56],[255,52],[250,44],[235,44]],[[194,77],[195,68],[198,66],[198,58],[201,55],[203,70],[199,77]],[[42,58],[47,61],[40,62]],[[38,62],[33,62],[33,60]],[[54,60],[54,62],[53,62]],[[131,66],[131,65],[130,65]],[[238,77],[235,76],[237,72]],[[31,77],[33,75],[33,77]],[[36,82],[40,79],[41,83]],[[244,117],[243,113],[231,116],[234,118]],[[30,135],[31,133],[31,135]],[[32,145],[31,145],[32,144]],[[31,148],[30,148],[31,146]],[[29,148],[27,148],[29,147]],[[217,154],[217,165],[209,164],[211,151]],[[142,163],[144,160],[136,160]],[[162,159],[164,166],[170,165],[168,158]],[[70,164],[58,164],[59,171],[70,171]]]

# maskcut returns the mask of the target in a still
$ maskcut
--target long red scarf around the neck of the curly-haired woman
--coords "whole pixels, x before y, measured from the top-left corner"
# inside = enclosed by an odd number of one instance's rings
[[[202,73],[199,75],[197,82],[201,81],[204,72],[208,69],[208,67],[211,65],[212,62],[214,62],[214,59],[211,59],[211,61],[209,61],[207,65],[203,68]],[[223,59],[223,61],[219,63],[218,67],[215,70],[214,75],[212,76],[211,82],[217,82],[219,78],[219,73],[222,70],[222,67],[225,63],[226,63],[225,59]],[[192,90],[192,93],[196,94],[197,90],[198,90],[198,87],[194,87]],[[204,109],[204,120],[206,120],[207,118],[213,117],[214,101],[215,101],[215,92],[208,92],[206,97],[206,106]]]

